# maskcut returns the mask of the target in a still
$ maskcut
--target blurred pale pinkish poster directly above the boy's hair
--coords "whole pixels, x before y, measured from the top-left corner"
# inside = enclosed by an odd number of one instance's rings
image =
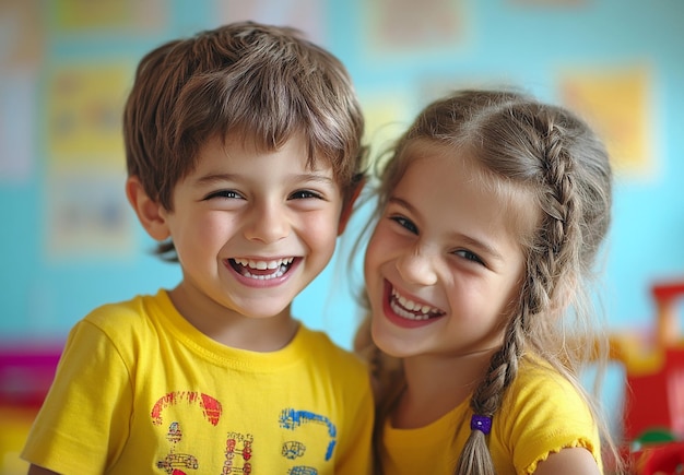
[[[325,2],[320,0],[216,0],[215,8],[221,24],[253,20],[292,26],[300,29],[314,43],[327,43]]]

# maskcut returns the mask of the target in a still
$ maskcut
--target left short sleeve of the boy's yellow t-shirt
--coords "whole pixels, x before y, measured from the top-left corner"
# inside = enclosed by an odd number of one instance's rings
[[[129,371],[87,321],[71,331],[23,456],[64,474],[102,474],[121,451],[132,409]],[[51,402],[55,403],[51,403]]]

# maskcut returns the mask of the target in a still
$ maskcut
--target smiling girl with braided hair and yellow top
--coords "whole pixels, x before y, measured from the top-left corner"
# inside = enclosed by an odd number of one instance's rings
[[[370,332],[400,358],[374,358],[382,473],[602,473],[578,382],[606,355],[583,284],[611,216],[591,130],[516,93],[459,92],[400,138],[378,213],[356,344]]]

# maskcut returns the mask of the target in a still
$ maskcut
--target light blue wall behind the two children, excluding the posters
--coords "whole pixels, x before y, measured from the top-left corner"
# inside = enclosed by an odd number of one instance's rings
[[[83,253],[78,249],[61,253],[50,250],[54,229],[49,225],[49,213],[51,203],[59,198],[52,194],[55,188],[50,183],[55,168],[50,156],[54,150],[46,141],[49,134],[47,109],[55,100],[49,92],[51,74],[70,62],[114,63],[121,64],[130,80],[137,61],[149,49],[169,38],[237,19],[243,11],[239,3],[161,2],[162,10],[157,13],[163,14],[149,19],[151,27],[140,27],[148,19],[133,16],[129,22],[137,27],[89,28],[86,21],[85,25],[81,23],[78,28],[69,29],[63,26],[64,14],[69,12],[62,10],[68,9],[69,1],[7,2],[7,5],[20,5],[15,7],[19,10],[25,8],[27,15],[34,15],[31,21],[35,21],[36,31],[32,40],[36,41],[34,46],[39,54],[30,67],[10,63],[19,73],[8,70],[8,62],[3,62],[0,73],[0,106],[4,110],[1,116],[4,123],[0,124],[5,128],[5,133],[0,134],[0,140],[5,141],[0,144],[0,152],[5,154],[0,159],[0,292],[3,301],[0,345],[30,339],[59,341],[92,308],[138,293],[153,293],[158,287],[172,287],[179,278],[174,265],[157,262],[149,254],[153,242],[140,230],[128,210],[122,217],[125,226],[132,229],[129,233],[132,245],[128,250],[110,253],[104,246],[95,247],[96,252]],[[364,107],[369,116],[376,117],[370,121],[376,129],[381,122],[378,117],[392,117],[398,122],[393,127],[400,130],[427,98],[446,85],[505,83],[521,86],[544,99],[561,100],[558,78],[562,71],[634,64],[649,71],[649,110],[652,111],[648,119],[649,171],[644,176],[617,176],[614,226],[605,265],[605,308],[611,324],[617,329],[648,325],[654,313],[649,285],[684,276],[684,2],[434,1],[459,12],[459,16],[452,19],[458,32],[449,40],[428,38],[422,48],[392,47],[378,39],[374,22],[381,14],[367,7],[378,3],[384,2],[272,0],[253,2],[257,5],[253,11],[256,20],[272,23],[302,22],[307,12],[317,15],[308,24],[298,26],[312,28],[309,33],[314,39],[347,66]],[[431,3],[433,1],[421,2],[426,15]],[[32,10],[33,4],[38,8]],[[158,3],[150,1],[149,4]],[[16,14],[16,10],[8,10],[7,5],[0,8],[5,20],[8,12]],[[235,5],[233,10],[231,5]],[[308,10],[291,15],[288,8]],[[418,23],[416,21],[416,27]],[[1,27],[9,25],[3,22]],[[410,28],[406,35],[409,33]],[[7,38],[10,33],[5,29],[2,35]],[[9,37],[24,40],[21,36]],[[2,51],[0,49],[0,55]],[[4,60],[2,56],[0,60]],[[28,85],[17,78],[28,78]],[[27,100],[20,102],[16,111],[10,112],[21,99],[15,94],[15,84],[22,84]],[[119,99],[125,97],[128,84],[118,91]],[[380,103],[382,105],[378,106]],[[16,138],[7,130],[16,126],[14,120],[26,122],[31,130],[31,147],[23,155],[24,159],[30,157],[30,163],[24,173],[12,171],[8,165],[13,161],[8,153],[12,153]],[[376,140],[374,144],[380,146],[381,141]],[[97,155],[96,147],[93,154]],[[111,168],[120,188],[121,203],[125,203],[122,168]],[[83,199],[89,200],[89,197]],[[335,259],[297,298],[295,313],[349,346],[357,310],[347,288],[345,260],[344,257]],[[354,278],[359,275],[356,273]]]

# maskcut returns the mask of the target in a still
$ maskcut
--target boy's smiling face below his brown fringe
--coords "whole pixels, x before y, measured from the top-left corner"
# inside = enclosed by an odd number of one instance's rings
[[[307,168],[299,135],[276,152],[249,143],[209,141],[176,185],[174,211],[160,212],[182,266],[180,310],[190,320],[192,309],[288,317],[334,251],[343,203],[332,167],[321,159]]]

